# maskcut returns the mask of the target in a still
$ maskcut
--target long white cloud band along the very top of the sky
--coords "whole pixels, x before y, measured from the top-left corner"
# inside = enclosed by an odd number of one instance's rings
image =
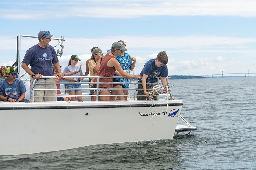
[[[252,0],[131,0],[131,1],[51,1],[2,2],[11,6],[0,9],[0,17],[23,20],[38,18],[89,17],[89,18],[138,18],[144,16],[240,16],[256,17],[256,2]],[[14,6],[16,5],[16,9]],[[50,5],[50,6],[49,6]],[[41,8],[44,8],[42,10]],[[26,8],[26,9],[22,9]],[[30,10],[29,10],[30,9]],[[75,12],[74,12],[75,11]],[[116,15],[118,14],[118,15]]]

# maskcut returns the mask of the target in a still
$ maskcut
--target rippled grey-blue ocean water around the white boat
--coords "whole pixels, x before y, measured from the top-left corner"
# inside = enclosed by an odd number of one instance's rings
[[[255,84],[256,77],[171,80],[181,115],[197,127],[191,135],[0,156],[0,169],[256,169]]]

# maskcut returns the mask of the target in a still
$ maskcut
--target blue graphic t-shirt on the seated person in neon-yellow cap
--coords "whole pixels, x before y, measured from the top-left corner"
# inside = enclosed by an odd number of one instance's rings
[[[22,93],[25,93],[27,90],[21,79],[15,78],[13,84],[9,84],[7,79],[0,82],[0,94],[3,94],[4,97],[13,98],[18,100]]]

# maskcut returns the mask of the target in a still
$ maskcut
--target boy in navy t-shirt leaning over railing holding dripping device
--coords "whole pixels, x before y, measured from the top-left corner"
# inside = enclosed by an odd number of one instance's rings
[[[156,59],[151,59],[146,62],[144,68],[142,69],[140,75],[142,79],[138,79],[139,86],[138,88],[143,90],[138,90],[137,95],[146,94],[146,96],[137,96],[137,100],[146,100],[151,98],[150,93],[146,89],[152,89],[154,85],[157,84],[157,78],[160,76],[160,80],[163,86],[166,86],[166,78],[168,76],[168,69],[166,64],[168,63],[168,56],[165,51],[160,51]],[[142,84],[140,84],[142,83]],[[149,83],[149,84],[146,84]],[[157,99],[157,96],[153,97],[154,100]]]

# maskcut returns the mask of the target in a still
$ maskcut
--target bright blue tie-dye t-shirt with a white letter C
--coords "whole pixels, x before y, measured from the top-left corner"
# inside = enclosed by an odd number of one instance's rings
[[[128,53],[124,53],[124,56],[119,55],[116,57],[122,69],[127,73],[130,73],[130,66],[132,65],[132,61],[130,60],[130,57],[131,56]],[[115,74],[114,76],[118,76],[118,75]],[[118,80],[119,82],[130,82],[130,79],[126,79],[126,78],[116,78],[116,80]],[[129,84],[123,84],[123,86],[125,88],[129,88]]]

